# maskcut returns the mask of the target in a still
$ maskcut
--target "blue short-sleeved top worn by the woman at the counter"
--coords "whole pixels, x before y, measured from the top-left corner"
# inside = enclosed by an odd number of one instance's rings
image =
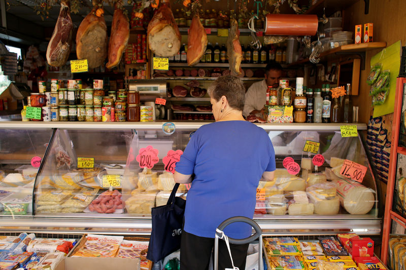
[[[275,171],[275,151],[268,134],[246,121],[215,122],[190,138],[176,171],[195,174],[187,195],[184,230],[214,238],[221,222],[233,216],[253,218],[256,188],[264,171]],[[228,225],[231,238],[251,235],[245,223]]]

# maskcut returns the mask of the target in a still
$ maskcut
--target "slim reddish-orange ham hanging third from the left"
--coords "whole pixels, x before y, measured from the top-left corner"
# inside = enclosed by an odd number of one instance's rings
[[[117,4],[116,4],[117,5]],[[114,10],[109,42],[109,62],[106,67],[112,69],[120,63],[125,46],[130,37],[130,24],[122,9]]]

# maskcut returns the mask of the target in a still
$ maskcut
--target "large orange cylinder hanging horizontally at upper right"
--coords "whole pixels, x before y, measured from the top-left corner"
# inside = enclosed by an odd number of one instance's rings
[[[267,14],[267,35],[315,35],[319,20],[317,15]]]

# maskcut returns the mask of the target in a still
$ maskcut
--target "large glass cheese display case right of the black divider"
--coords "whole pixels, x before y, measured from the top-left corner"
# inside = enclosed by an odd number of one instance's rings
[[[30,228],[149,234],[151,208],[165,204],[175,184],[164,158],[169,151],[184,150],[193,131],[204,125],[174,123],[171,134],[163,124],[55,123],[31,189]],[[10,125],[17,124],[5,123],[3,128]],[[274,180],[259,182],[257,188],[254,220],[264,235],[380,234],[379,190],[359,136],[343,138],[340,125],[334,124],[258,126],[269,134],[277,163]],[[155,156],[145,159],[142,155],[149,148]],[[325,162],[314,166],[317,154]],[[287,169],[294,163],[298,170],[291,174]],[[362,173],[351,169],[354,163]],[[186,201],[188,188],[178,189]],[[3,221],[2,229],[11,226],[7,218]],[[16,219],[14,226],[16,222],[28,225]]]

